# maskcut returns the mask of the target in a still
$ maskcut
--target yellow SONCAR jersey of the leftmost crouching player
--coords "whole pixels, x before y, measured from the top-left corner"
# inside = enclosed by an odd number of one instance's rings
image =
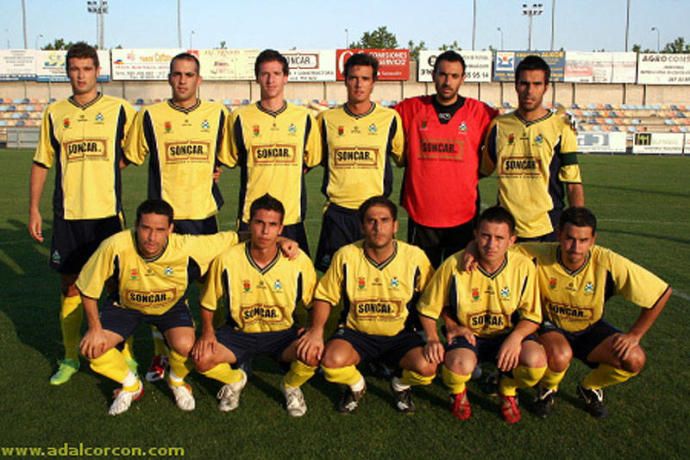
[[[101,243],[79,274],[77,288],[98,299],[105,282],[115,276],[117,304],[147,315],[162,315],[183,299],[189,284],[206,273],[218,254],[237,241],[235,232],[173,233],[163,253],[147,261],[137,251],[136,233],[123,230]]]

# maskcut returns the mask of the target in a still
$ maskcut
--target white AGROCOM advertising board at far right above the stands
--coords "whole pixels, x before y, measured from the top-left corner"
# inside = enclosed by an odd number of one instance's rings
[[[641,85],[689,85],[690,54],[640,53],[637,83]]]

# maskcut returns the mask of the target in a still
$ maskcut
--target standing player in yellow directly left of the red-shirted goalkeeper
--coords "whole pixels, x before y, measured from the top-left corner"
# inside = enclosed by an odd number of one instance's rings
[[[402,161],[400,115],[371,101],[379,63],[358,53],[345,62],[347,102],[319,115],[325,167],[321,191],[328,202],[316,251],[316,268],[326,271],[335,251],[362,238],[357,209],[369,197],[389,196],[393,170]]]

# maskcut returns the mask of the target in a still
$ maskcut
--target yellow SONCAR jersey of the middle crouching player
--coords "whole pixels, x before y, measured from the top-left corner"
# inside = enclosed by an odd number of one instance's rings
[[[395,241],[395,252],[381,264],[367,256],[362,244],[348,244],[335,253],[314,297],[331,305],[342,301],[340,324],[349,329],[397,335],[433,268],[421,249],[402,241]]]

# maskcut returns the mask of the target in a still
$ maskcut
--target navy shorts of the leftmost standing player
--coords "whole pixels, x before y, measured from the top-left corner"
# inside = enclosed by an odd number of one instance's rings
[[[50,267],[77,275],[103,240],[124,228],[122,214],[104,219],[65,220],[53,217]]]

